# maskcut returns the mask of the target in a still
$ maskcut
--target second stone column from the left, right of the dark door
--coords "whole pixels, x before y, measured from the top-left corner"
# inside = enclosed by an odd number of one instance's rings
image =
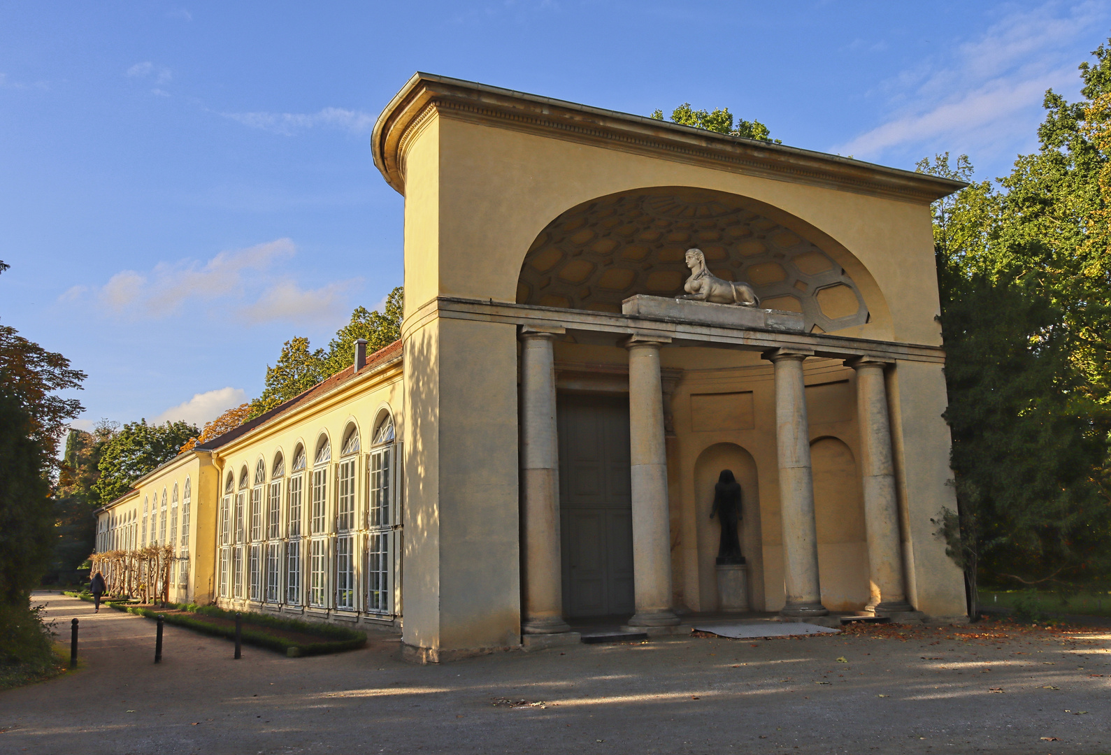
[[[637,613],[629,626],[673,626],[668,457],[660,384],[660,346],[670,339],[633,335],[629,350],[632,568]]]

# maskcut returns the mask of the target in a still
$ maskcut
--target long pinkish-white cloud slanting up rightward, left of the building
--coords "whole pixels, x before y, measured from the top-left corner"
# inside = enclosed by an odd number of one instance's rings
[[[296,253],[297,246],[290,239],[277,239],[220,252],[204,264],[187,260],[159,262],[149,273],[123,270],[112,275],[97,298],[116,314],[166,318],[178,312],[189,300],[242,295],[248,276],[264,273],[277,261]]]

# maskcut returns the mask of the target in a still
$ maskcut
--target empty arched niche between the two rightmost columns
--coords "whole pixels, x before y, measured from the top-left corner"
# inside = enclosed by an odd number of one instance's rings
[[[852,451],[837,437],[810,445],[818,525],[818,576],[822,605],[830,611],[859,611],[868,604],[868,541],[864,496]]]

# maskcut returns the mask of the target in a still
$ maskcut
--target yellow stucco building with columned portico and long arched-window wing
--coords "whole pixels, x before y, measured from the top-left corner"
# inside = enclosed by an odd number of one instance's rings
[[[401,341],[140,480],[99,548],[168,542],[188,490],[171,597],[393,623],[422,661],[594,616],[965,614],[931,523],[930,202],[962,184],[429,74],[372,150]],[[692,273],[761,303],[678,301]],[[727,469],[744,564],[717,558]]]

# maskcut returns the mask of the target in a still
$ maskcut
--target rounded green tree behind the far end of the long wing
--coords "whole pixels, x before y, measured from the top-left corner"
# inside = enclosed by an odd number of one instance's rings
[[[156,425],[140,420],[123,425],[101,450],[93,503],[103,505],[123,495],[136,480],[177,456],[186,441],[199,434],[196,426],[181,421]]]

